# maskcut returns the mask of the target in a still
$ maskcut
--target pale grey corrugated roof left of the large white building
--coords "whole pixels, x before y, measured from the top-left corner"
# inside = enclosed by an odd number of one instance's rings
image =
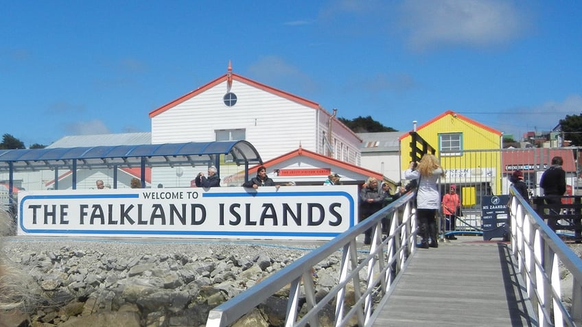
[[[55,147],[96,147],[100,145],[141,145],[151,144],[152,133],[120,133],[120,134],[93,134],[71,135],[58,139],[47,148]]]

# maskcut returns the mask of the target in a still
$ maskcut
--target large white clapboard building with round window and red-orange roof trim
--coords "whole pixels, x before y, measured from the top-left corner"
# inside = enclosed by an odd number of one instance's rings
[[[264,161],[303,149],[360,165],[361,140],[314,101],[232,73],[150,112],[152,144],[246,140]]]

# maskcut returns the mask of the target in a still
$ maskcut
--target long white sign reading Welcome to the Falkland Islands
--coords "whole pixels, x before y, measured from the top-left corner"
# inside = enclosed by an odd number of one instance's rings
[[[355,223],[358,186],[19,192],[19,235],[331,239]]]

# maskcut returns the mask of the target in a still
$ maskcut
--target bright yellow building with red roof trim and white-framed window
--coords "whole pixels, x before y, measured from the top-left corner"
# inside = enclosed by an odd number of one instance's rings
[[[412,134],[400,137],[402,175],[415,146]],[[482,195],[501,193],[501,132],[449,110],[419,125],[416,134],[435,150],[445,169],[441,191],[456,184],[465,207],[480,204]]]

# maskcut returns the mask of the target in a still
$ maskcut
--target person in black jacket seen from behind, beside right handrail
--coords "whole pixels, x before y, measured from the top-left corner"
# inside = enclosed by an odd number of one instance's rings
[[[546,204],[561,204],[561,197],[566,193],[566,171],[562,169],[563,159],[560,156],[552,158],[552,165],[542,173],[539,187],[544,189]],[[550,208],[550,213],[559,215],[559,207]],[[558,217],[548,218],[548,226],[556,231]]]

